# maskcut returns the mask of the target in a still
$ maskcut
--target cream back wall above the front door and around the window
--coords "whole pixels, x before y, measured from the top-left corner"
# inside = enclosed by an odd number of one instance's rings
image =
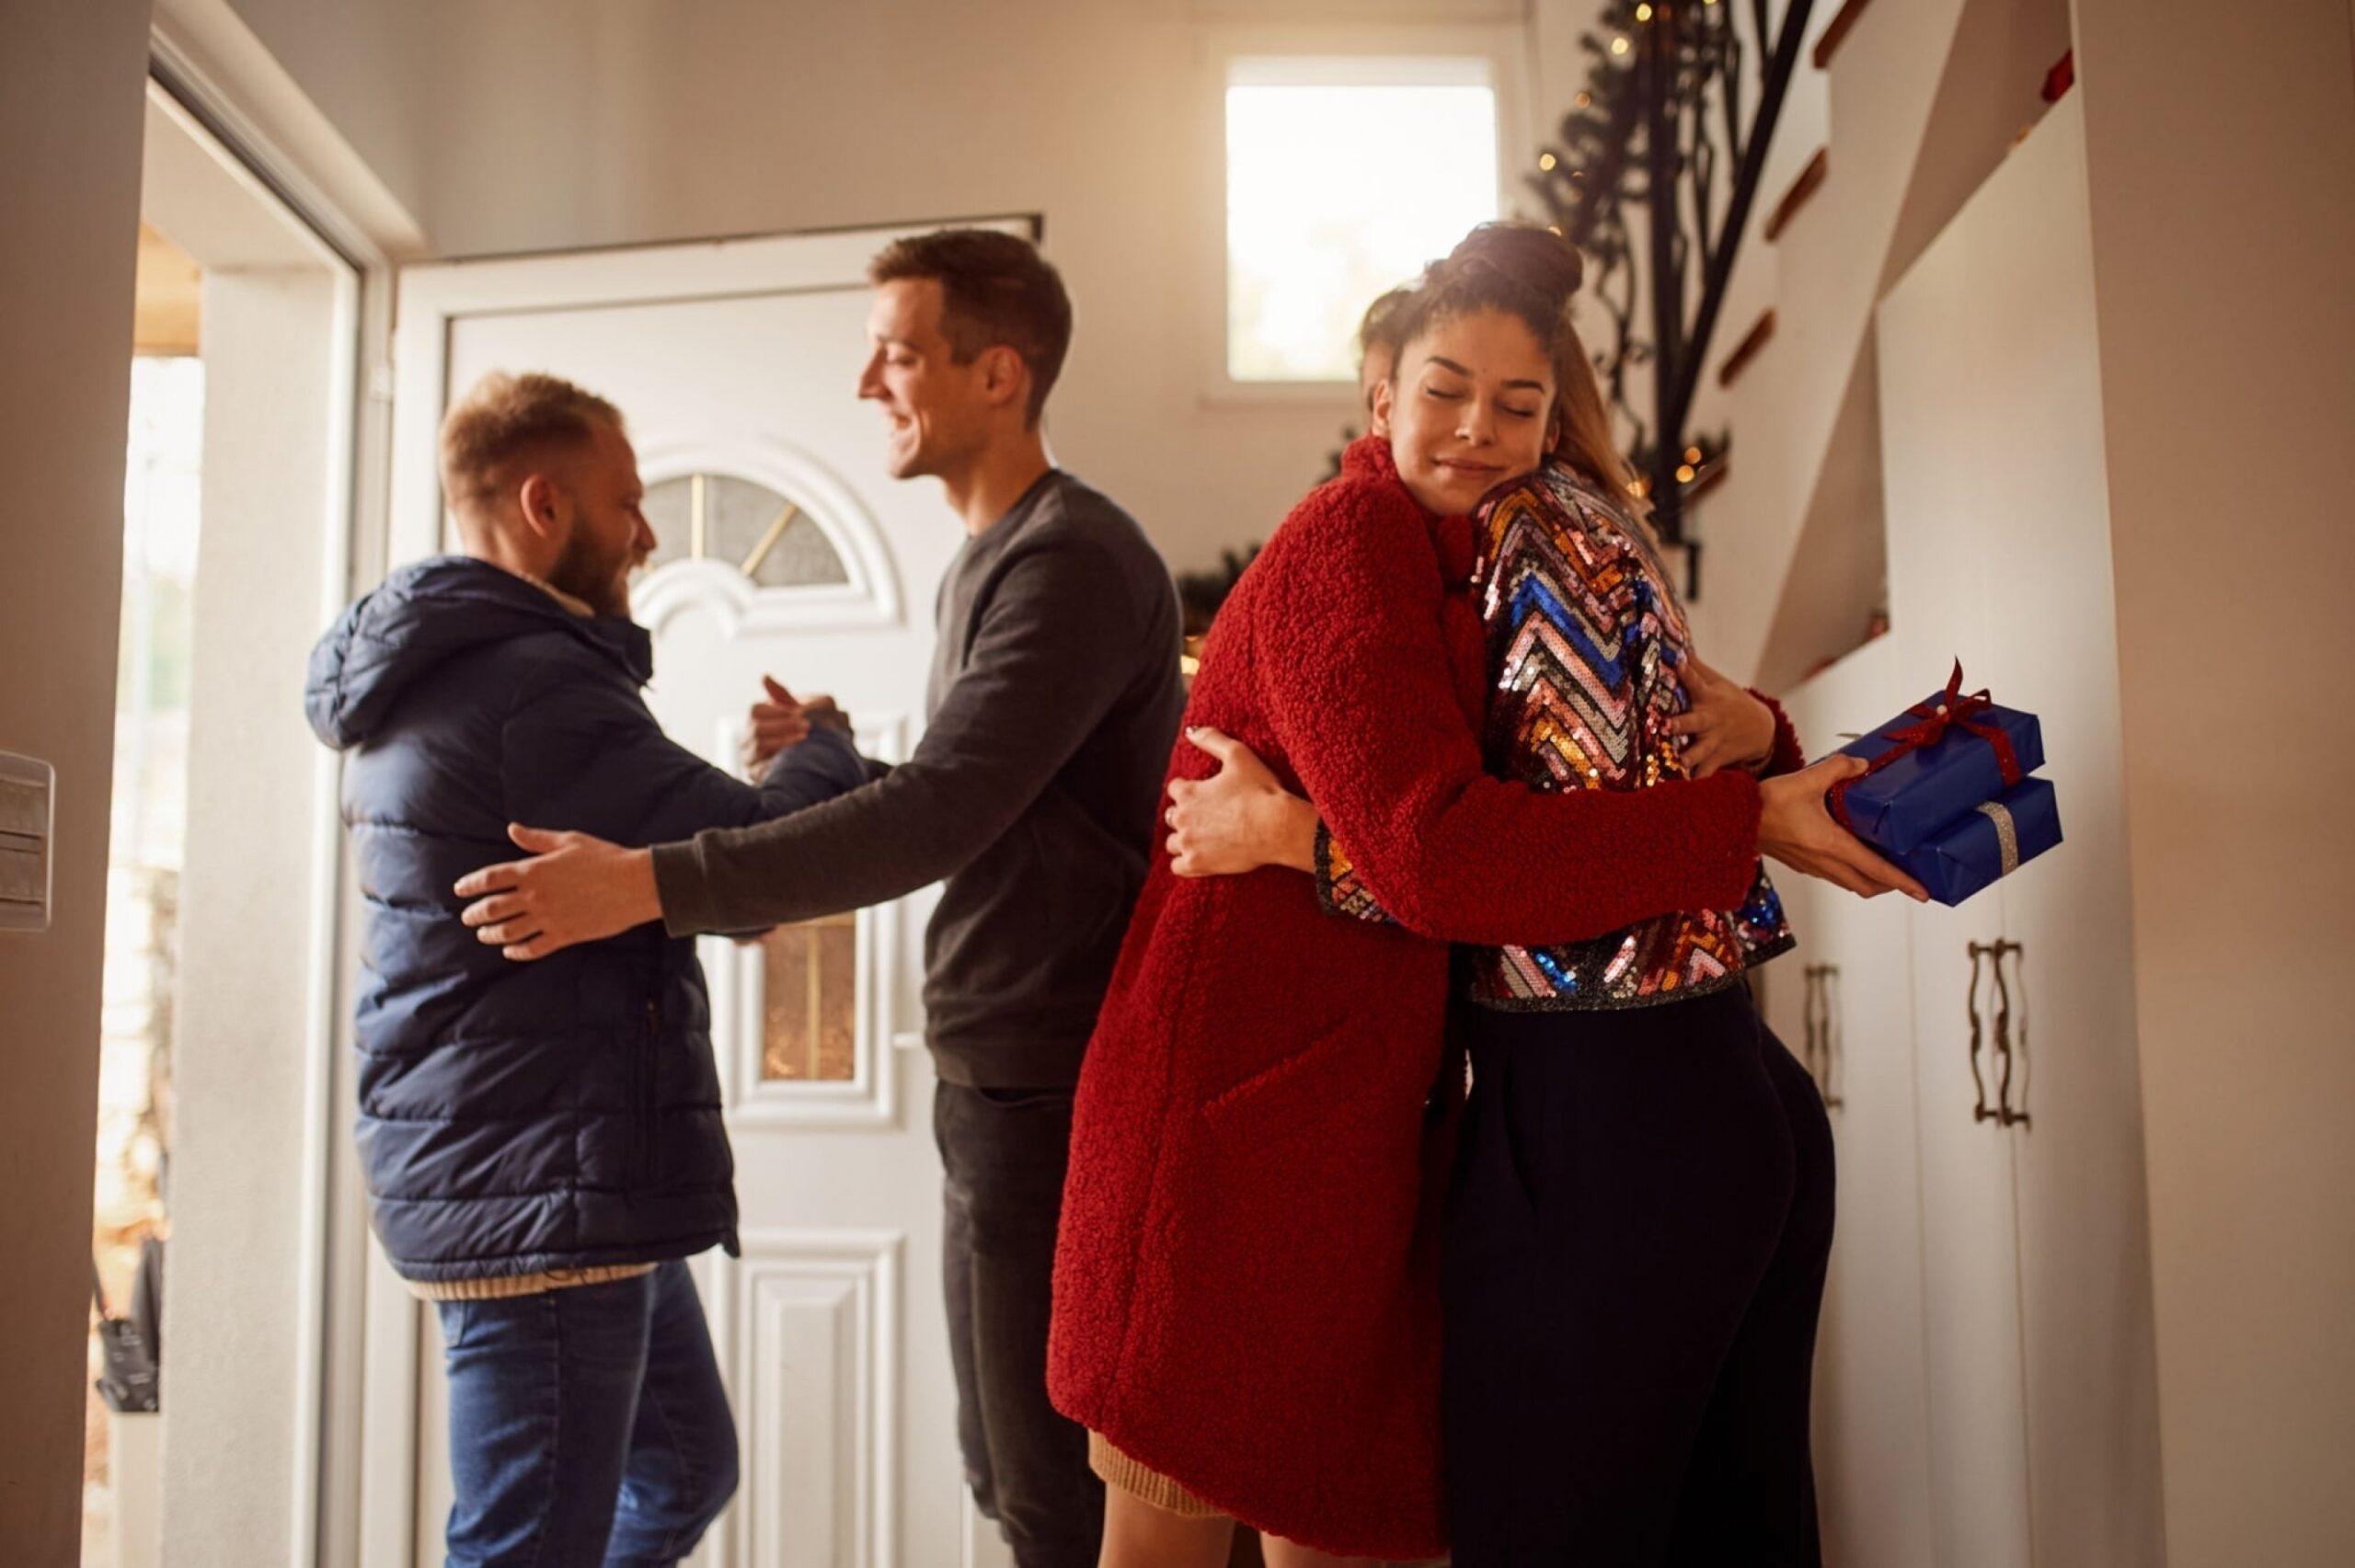
[[[1178,570],[1265,539],[1356,412],[1347,388],[1203,403],[1220,170],[1199,40],[1524,19],[1521,0],[236,5],[363,155],[414,160],[386,179],[445,257],[1043,212],[1079,308],[1057,457]],[[1535,120],[1559,108],[1540,94]]]

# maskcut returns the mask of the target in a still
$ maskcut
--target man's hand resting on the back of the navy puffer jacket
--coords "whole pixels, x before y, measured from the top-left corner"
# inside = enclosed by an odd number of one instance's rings
[[[455,883],[462,899],[473,899],[459,918],[473,928],[476,942],[506,958],[546,958],[662,918],[652,850],[520,824],[511,824],[506,836],[532,859],[483,866]]]

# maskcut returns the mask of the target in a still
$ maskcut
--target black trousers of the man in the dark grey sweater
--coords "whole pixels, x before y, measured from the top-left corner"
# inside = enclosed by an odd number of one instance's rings
[[[944,1081],[933,1137],[947,1172],[949,1361],[973,1500],[1022,1568],[1095,1568],[1104,1483],[1088,1469],[1088,1429],[1046,1396],[1072,1090]]]

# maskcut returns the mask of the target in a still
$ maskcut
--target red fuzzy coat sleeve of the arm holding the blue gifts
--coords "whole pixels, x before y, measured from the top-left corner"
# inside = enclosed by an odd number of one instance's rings
[[[1557,944],[1740,904],[1757,873],[1747,775],[1566,793],[1488,777],[1451,680],[1429,527],[1404,490],[1331,485],[1286,532],[1272,563],[1288,567],[1286,612],[1262,629],[1269,725],[1399,925]]]

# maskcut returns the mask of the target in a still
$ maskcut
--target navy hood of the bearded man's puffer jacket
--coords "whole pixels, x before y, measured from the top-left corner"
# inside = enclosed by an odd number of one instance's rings
[[[304,713],[337,751],[363,744],[419,676],[445,659],[528,636],[570,636],[612,659],[636,685],[655,673],[655,643],[631,619],[572,614],[537,584],[469,556],[396,570],[311,650]]]

